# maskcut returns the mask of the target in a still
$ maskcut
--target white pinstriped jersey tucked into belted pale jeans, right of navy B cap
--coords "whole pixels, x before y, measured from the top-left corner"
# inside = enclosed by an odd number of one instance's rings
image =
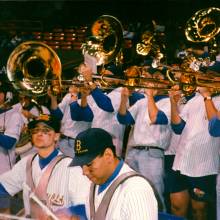
[[[168,121],[170,121],[169,98],[159,100],[156,105],[159,110],[166,114]],[[128,148],[132,146],[157,146],[166,149],[169,146],[171,135],[169,122],[168,125],[151,124],[147,97],[137,101],[128,110],[135,120],[129,135]]]

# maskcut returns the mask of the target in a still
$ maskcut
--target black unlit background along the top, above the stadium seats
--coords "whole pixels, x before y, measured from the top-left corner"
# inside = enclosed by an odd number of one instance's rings
[[[219,7],[220,0],[99,0],[1,1],[0,26],[8,20],[40,21],[44,28],[89,24],[102,14],[121,22],[173,22],[183,24],[197,10]]]

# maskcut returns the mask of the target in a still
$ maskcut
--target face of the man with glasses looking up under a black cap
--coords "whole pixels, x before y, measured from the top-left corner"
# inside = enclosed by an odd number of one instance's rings
[[[34,146],[39,149],[54,147],[59,138],[53,129],[40,123],[31,129],[31,135]]]

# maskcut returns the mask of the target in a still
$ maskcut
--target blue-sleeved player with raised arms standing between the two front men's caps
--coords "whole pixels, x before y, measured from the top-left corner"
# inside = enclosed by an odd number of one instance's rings
[[[61,120],[61,137],[57,143],[57,147],[66,155],[74,157],[74,139],[76,135],[91,127],[93,113],[87,105],[86,91],[81,89],[81,97],[79,97],[79,89],[75,86],[69,88],[69,92],[63,97],[58,104],[57,97],[48,90],[48,96],[51,98],[51,114],[55,115]],[[79,103],[79,104],[78,104]],[[79,115],[80,110],[83,114],[87,114],[82,119]]]

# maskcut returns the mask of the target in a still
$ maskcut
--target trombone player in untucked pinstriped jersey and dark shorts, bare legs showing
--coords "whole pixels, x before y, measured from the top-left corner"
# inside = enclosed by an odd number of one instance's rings
[[[173,163],[175,178],[170,198],[173,214],[187,217],[191,202],[193,217],[208,219],[207,206],[215,201],[220,145],[220,139],[212,137],[208,130],[208,105],[212,99],[219,108],[220,96],[211,98],[204,88],[198,91],[181,113],[173,98],[175,92],[170,92],[172,129],[181,135]]]

